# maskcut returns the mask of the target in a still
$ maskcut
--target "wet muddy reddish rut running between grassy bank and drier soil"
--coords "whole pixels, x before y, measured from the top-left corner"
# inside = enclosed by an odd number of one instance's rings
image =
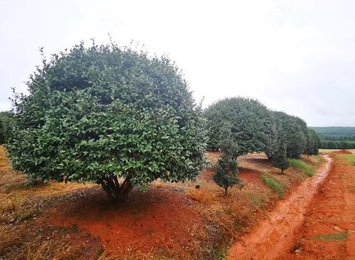
[[[308,178],[282,200],[269,215],[269,220],[260,223],[251,234],[235,243],[228,259],[277,259],[286,254],[295,245],[294,232],[299,229],[307,215],[307,208],[312,202],[317,188],[327,177],[332,165],[332,158],[327,158],[327,165],[314,178]],[[298,248],[297,248],[298,249]],[[295,254],[290,255],[291,258]],[[312,259],[312,258],[308,258]]]

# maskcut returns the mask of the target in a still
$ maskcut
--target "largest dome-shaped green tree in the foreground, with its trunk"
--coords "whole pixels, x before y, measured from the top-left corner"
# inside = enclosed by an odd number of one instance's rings
[[[27,85],[28,96],[14,98],[8,148],[31,178],[90,181],[120,200],[134,186],[201,169],[201,109],[168,58],[80,43],[43,59]]]

